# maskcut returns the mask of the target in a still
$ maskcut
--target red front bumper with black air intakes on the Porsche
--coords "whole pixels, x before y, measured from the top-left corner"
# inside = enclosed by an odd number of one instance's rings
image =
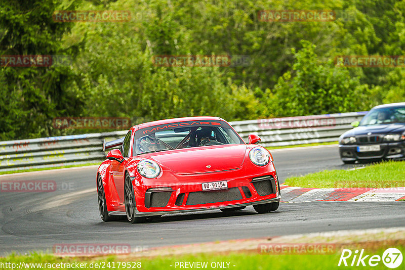
[[[274,165],[244,166],[212,173],[175,174],[164,177],[131,177],[138,216],[163,215],[240,207],[280,201]],[[203,191],[203,184],[226,181],[226,189]],[[110,214],[125,214],[124,205],[111,205]]]

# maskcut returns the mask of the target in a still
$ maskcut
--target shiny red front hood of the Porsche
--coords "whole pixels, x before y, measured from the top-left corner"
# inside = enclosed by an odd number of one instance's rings
[[[216,145],[146,154],[176,173],[204,173],[242,166],[247,145]]]

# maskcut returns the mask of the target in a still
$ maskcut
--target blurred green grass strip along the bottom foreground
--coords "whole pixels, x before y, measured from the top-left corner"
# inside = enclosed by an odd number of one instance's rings
[[[396,245],[402,254],[405,254],[405,246]],[[365,254],[376,254],[382,256],[384,249],[379,249],[377,251],[370,251],[366,249]],[[353,249],[354,251],[354,249]],[[260,269],[311,269],[311,270],[325,270],[325,269],[342,269],[342,268],[364,268],[368,269],[370,266],[362,266],[362,267],[350,267],[350,266],[338,266],[338,262],[341,256],[340,250],[333,254],[276,254],[270,255],[266,253],[257,253],[257,252],[248,252],[248,253],[230,253],[230,254],[221,254],[215,255],[214,253],[200,253],[196,255],[181,255],[181,256],[164,256],[164,257],[154,257],[154,258],[141,258],[141,259],[128,259],[131,261],[130,268],[134,265],[132,262],[140,262],[141,269],[146,270],[160,270],[160,269],[180,269],[179,266],[176,267],[176,262],[208,262],[207,269],[213,269],[211,267],[212,262],[224,262],[225,266],[227,265],[226,262],[229,262],[229,269],[243,269],[243,270],[260,270]],[[370,256],[369,256],[370,257]],[[352,257],[351,257],[352,258]],[[351,262],[351,258],[347,259],[347,262]],[[124,269],[128,268],[128,264],[126,263],[127,267],[118,267],[119,261],[125,261],[123,259],[118,259],[114,256],[92,259],[92,258],[75,258],[75,257],[57,257],[54,255],[49,254],[31,254],[28,256],[17,256],[11,255],[5,258],[0,258],[1,263],[15,263],[18,268],[20,262],[23,261],[25,263],[43,263],[42,268],[39,267],[22,267],[20,269],[56,269],[56,267],[44,267],[44,263],[87,263],[85,267],[66,267],[66,265],[60,265],[65,267],[59,267],[59,269],[98,269],[99,267],[89,267],[90,263],[101,263],[101,269],[109,269],[112,268],[113,263],[115,264],[116,269]],[[108,264],[109,263],[109,264]],[[367,263],[367,260],[366,260]],[[403,265],[405,262],[402,262]],[[107,266],[110,267],[107,267]],[[172,265],[172,266],[171,266]],[[0,265],[1,266],[1,265]],[[56,266],[56,265],[55,265]],[[87,267],[86,267],[87,266]],[[1,267],[2,269],[12,269],[11,267]],[[136,268],[136,267],[135,267]],[[382,263],[373,269],[387,269],[387,267]],[[398,267],[400,269],[401,266]],[[133,268],[132,268],[133,269]],[[137,268],[136,268],[137,269]],[[184,269],[184,268],[183,268]],[[218,268],[216,268],[218,269]]]

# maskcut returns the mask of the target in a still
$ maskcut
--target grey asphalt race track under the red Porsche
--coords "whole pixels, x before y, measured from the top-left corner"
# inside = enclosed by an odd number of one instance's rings
[[[290,175],[345,169],[337,146],[273,150],[281,183]],[[362,165],[361,165],[362,166]],[[3,175],[1,181],[55,181],[56,191],[0,193],[0,256],[12,251],[52,252],[62,243],[115,243],[167,246],[323,231],[400,227],[402,202],[281,203],[276,212],[253,207],[236,213],[220,210],[164,215],[142,224],[103,222],[97,206],[97,166]],[[281,194],[282,195],[282,194]]]

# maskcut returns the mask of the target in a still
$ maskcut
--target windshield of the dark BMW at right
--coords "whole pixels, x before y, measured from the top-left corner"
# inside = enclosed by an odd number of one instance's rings
[[[361,119],[360,125],[405,123],[405,106],[373,109]]]

